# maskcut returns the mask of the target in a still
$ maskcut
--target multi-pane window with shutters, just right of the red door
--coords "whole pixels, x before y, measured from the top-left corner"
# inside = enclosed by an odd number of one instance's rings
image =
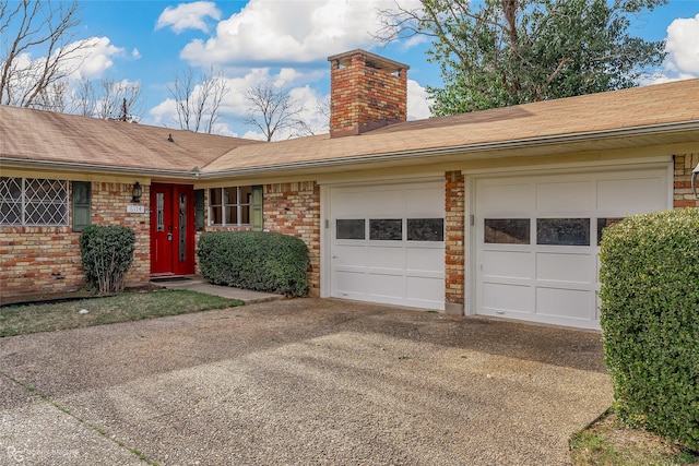
[[[209,225],[249,226],[252,187],[212,188],[209,190]]]

